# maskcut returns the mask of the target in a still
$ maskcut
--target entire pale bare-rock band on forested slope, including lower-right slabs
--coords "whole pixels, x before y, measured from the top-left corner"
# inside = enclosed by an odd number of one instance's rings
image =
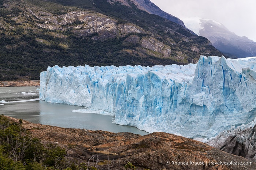
[[[32,11],[31,14],[40,20],[44,20],[44,24],[38,24],[42,28],[62,31],[71,28],[72,32],[80,36],[88,36],[97,32],[98,35],[94,36],[92,38],[93,40],[113,39],[131,33],[146,34],[146,31],[134,24],[117,24],[118,22],[116,20],[95,12],[69,12],[60,16],[45,16],[45,14],[41,14],[43,17]],[[78,24],[76,26],[69,26],[74,23]],[[171,48],[153,37],[144,37],[140,40],[138,36],[133,35],[127,38],[126,41],[129,43],[139,43],[145,49],[162,53],[163,57],[171,56]]]

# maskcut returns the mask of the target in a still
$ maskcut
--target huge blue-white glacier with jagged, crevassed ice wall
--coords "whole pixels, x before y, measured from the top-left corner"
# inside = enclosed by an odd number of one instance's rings
[[[40,100],[100,109],[116,124],[188,138],[211,138],[254,120],[255,90],[256,57],[200,56],[184,66],[54,66],[40,74]]]

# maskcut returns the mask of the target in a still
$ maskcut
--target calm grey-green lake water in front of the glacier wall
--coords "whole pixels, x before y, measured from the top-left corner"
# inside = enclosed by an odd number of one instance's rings
[[[104,130],[110,132],[132,132],[146,135],[136,127],[113,123],[115,118],[95,113],[71,112],[84,107],[52,104],[33,99],[39,98],[38,87],[0,87],[0,114],[28,120],[33,123],[48,124],[64,128]],[[22,100],[29,100],[21,102]],[[32,101],[31,101],[32,100]],[[3,103],[3,102],[7,103]]]

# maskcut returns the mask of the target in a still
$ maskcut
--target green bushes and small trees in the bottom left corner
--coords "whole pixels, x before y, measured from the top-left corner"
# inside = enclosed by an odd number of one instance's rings
[[[0,116],[1,170],[40,170],[46,167],[64,169],[62,167],[65,155],[64,148],[52,143],[43,146],[40,140],[32,138],[21,124]]]

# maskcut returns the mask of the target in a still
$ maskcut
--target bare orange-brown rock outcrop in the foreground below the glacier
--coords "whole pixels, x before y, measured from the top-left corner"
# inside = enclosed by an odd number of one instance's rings
[[[86,165],[89,163],[89,166],[97,166],[97,169],[121,170],[125,169],[127,162],[138,170],[256,169],[256,163],[251,163],[248,159],[164,132],[141,136],[129,132],[60,128],[25,120],[22,126],[43,143],[55,142],[65,147],[70,161],[84,162]]]

